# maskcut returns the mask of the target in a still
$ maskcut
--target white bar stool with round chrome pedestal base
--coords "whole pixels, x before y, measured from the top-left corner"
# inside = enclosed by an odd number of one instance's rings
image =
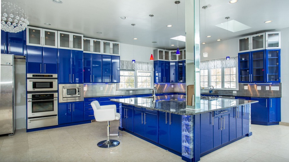
[[[116,113],[116,105],[105,105],[100,106],[98,101],[92,101],[91,106],[94,111],[94,117],[96,121],[107,121],[107,140],[101,141],[97,143],[98,147],[101,148],[112,148],[119,145],[119,141],[110,140],[110,136],[119,136],[119,132],[117,134],[110,134],[110,121],[119,120],[121,115]]]

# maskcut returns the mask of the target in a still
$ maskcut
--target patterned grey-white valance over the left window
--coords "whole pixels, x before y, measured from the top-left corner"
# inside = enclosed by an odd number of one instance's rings
[[[153,71],[153,62],[136,62],[121,60],[121,70],[146,70]]]

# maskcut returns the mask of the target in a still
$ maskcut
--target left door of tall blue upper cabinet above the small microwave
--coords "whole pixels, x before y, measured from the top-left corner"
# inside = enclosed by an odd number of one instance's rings
[[[71,82],[71,50],[58,49],[58,83]]]

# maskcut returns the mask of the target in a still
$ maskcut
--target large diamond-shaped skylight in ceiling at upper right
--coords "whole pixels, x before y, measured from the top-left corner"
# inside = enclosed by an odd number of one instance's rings
[[[230,20],[228,22],[223,22],[223,23],[218,24],[216,26],[218,26],[219,28],[223,28],[225,30],[231,31],[231,32],[243,31],[243,30],[251,28],[250,26],[242,24],[236,20]]]

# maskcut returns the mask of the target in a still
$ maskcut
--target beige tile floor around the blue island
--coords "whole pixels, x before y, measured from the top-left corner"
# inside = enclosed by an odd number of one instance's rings
[[[111,122],[111,133],[118,121]],[[201,161],[288,161],[289,127],[252,125],[253,136],[218,149]],[[88,123],[0,137],[0,161],[182,161],[181,157],[137,138],[125,131],[112,136],[121,144],[104,149],[96,146],[105,140],[106,123]]]

